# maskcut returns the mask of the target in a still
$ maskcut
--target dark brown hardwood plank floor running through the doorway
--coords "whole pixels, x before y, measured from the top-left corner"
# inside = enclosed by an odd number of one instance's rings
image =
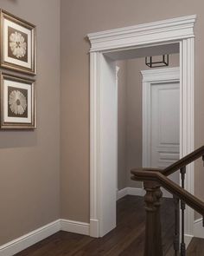
[[[163,199],[163,252],[173,256],[174,203],[171,199]],[[17,253],[16,256],[143,256],[145,213],[143,198],[127,195],[117,203],[117,227],[100,239],[85,235],[59,232],[46,240]],[[196,243],[195,243],[196,244]],[[200,247],[204,248],[203,245]],[[199,252],[192,244],[192,254]],[[169,253],[168,253],[169,252]],[[202,250],[204,252],[204,250]]]

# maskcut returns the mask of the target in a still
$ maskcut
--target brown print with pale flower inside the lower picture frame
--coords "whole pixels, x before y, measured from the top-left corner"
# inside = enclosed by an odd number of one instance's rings
[[[28,118],[28,90],[8,87],[8,116]]]

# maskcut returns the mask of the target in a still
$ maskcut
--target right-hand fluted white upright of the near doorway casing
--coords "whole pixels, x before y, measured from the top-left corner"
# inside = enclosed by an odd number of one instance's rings
[[[194,38],[180,42],[180,157],[194,151]],[[187,166],[185,188],[194,194],[194,162]],[[185,233],[194,235],[194,210],[186,207]]]

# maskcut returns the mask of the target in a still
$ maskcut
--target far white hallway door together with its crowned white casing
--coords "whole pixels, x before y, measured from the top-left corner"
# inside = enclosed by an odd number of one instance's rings
[[[179,160],[180,69],[149,69],[143,75],[143,167],[165,168]],[[179,184],[179,172],[169,177]],[[172,197],[163,189],[164,197]]]

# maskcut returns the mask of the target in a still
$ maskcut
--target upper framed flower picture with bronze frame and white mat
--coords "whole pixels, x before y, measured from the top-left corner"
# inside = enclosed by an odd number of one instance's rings
[[[35,75],[35,25],[1,10],[1,66]]]

